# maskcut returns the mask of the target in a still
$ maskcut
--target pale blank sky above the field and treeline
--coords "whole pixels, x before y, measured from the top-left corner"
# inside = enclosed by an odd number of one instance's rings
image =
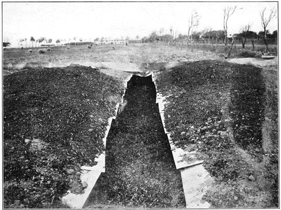
[[[223,30],[223,9],[235,5],[238,9],[228,20],[228,34],[239,33],[248,23],[251,31],[262,31],[260,11],[278,6],[277,2],[3,2],[3,41],[17,47],[17,40],[31,36],[51,38],[53,43],[74,37],[93,41],[138,35],[141,39],[153,31],[159,34],[161,28],[169,34],[171,27],[177,34],[188,34],[192,10],[200,15],[196,31]],[[278,18],[274,18],[268,30],[277,29]]]

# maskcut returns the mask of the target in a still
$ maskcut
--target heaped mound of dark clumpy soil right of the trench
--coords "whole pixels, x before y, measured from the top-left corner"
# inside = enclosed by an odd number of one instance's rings
[[[240,153],[241,148],[257,165],[265,159],[262,124],[266,89],[261,72],[262,69],[250,65],[198,61],[157,73],[159,92],[172,94],[165,110],[171,137],[183,149],[192,145],[200,151],[198,158],[204,159],[205,169],[221,187],[225,185],[222,189],[228,189],[207,193],[205,200],[213,207],[254,206],[248,197],[263,189],[256,182],[249,182],[255,169]],[[270,160],[275,163],[270,161],[259,173],[271,188],[268,192],[276,198],[274,186],[278,179],[272,175],[277,162]],[[250,189],[244,188],[249,185]],[[264,200],[262,206],[276,205],[272,199]]]

